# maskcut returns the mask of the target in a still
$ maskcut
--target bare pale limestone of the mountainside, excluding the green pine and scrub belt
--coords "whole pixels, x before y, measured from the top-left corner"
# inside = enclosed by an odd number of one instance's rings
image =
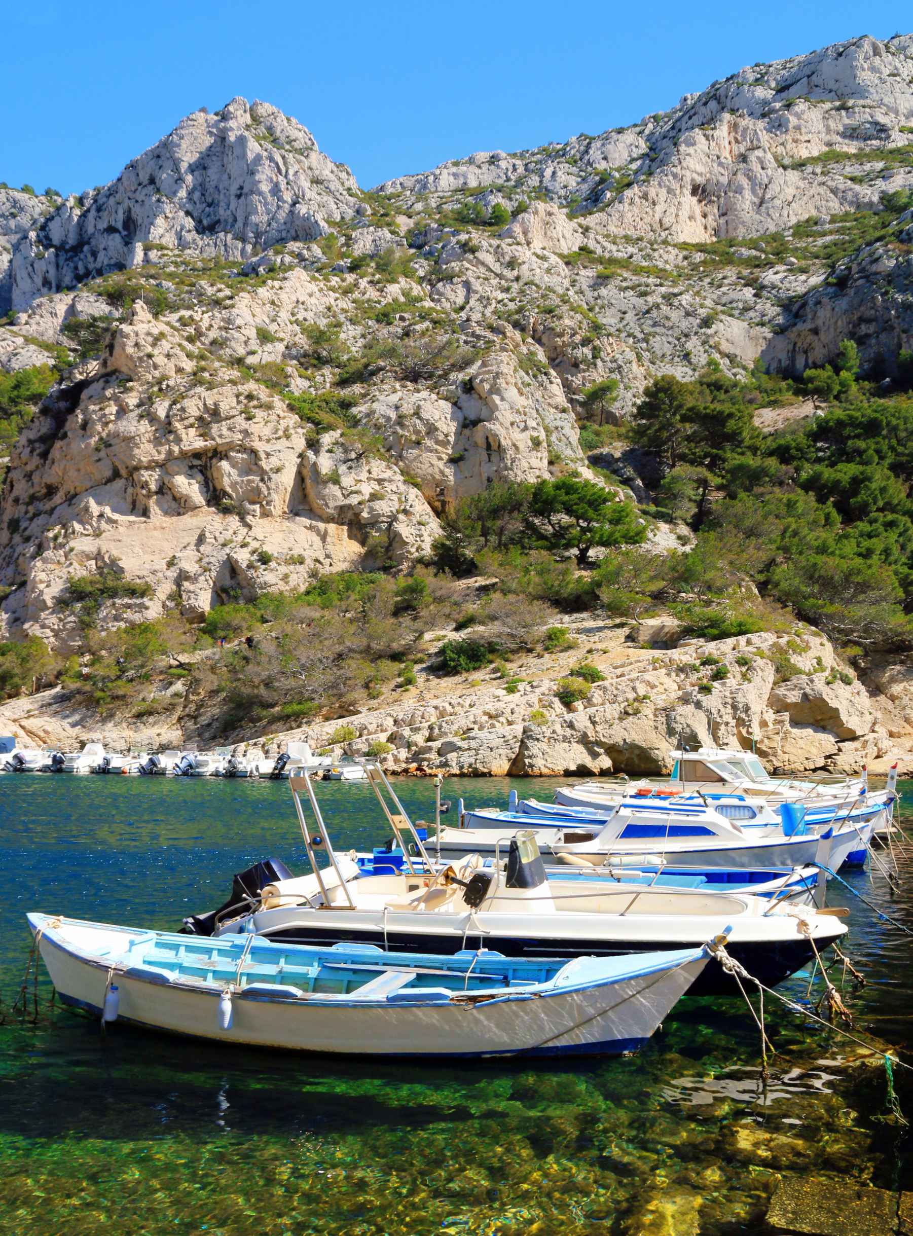
[[[77,648],[74,576],[148,585],[103,604],[104,628],[406,566],[448,507],[492,481],[598,475],[578,418],[608,379],[603,417],[621,421],[657,373],[740,376],[759,357],[797,373],[845,337],[867,371],[896,372],[913,347],[911,130],[913,36],[862,37],[741,69],[628,129],[474,154],[372,193],[297,121],[242,99],[188,116],[101,189],[0,190],[0,310],[14,305],[0,370],[49,355],[61,367],[0,499],[0,637]],[[777,408],[771,424],[807,414]],[[591,460],[647,501],[630,451]],[[681,535],[658,527],[651,543]],[[655,655],[671,674],[673,654]],[[399,705],[364,724],[415,724],[419,747],[440,733],[457,745],[429,754],[451,770],[482,769],[494,730],[492,769],[563,770],[573,755],[597,770],[616,760],[605,734],[621,726],[616,766],[652,768],[681,719],[670,709],[704,716],[725,697],[714,719],[729,709],[730,739],[838,766],[852,744],[904,740],[913,706],[894,671],[867,680],[873,721],[860,687],[834,705],[839,680],[773,684],[761,665],[750,685],[740,674],[747,703],[731,684],[686,701],[684,680],[676,696],[663,679],[662,709],[549,706],[544,738],[520,709],[528,685],[478,693],[497,714],[476,748]],[[642,659],[630,681],[641,672]],[[405,766],[411,748],[394,745]]]

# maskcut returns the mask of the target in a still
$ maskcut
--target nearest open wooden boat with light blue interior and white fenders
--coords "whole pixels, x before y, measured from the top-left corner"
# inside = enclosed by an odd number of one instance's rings
[[[500,953],[308,948],[28,915],[63,1004],[105,1022],[229,1043],[358,1056],[636,1051],[698,978],[708,948],[520,960]]]

